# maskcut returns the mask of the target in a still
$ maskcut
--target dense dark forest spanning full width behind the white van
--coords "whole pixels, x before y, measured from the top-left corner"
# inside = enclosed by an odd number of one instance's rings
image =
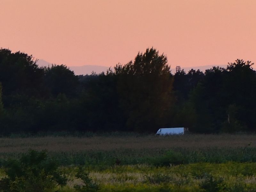
[[[0,134],[256,131],[252,62],[175,74],[167,62],[151,48],[106,73],[76,76],[65,65],[38,67],[26,53],[0,49]]]

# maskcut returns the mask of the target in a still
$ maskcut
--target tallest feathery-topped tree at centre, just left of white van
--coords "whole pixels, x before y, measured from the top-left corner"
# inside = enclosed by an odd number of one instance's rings
[[[156,49],[138,53],[134,61],[116,65],[119,104],[128,130],[155,132],[168,122],[172,103],[172,76],[167,57]]]

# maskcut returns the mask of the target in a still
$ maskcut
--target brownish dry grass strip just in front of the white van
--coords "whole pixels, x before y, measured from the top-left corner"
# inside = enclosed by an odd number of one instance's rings
[[[26,152],[47,149],[49,152],[79,152],[88,150],[256,147],[256,134],[188,134],[176,136],[95,136],[95,137],[31,137],[0,138],[0,152]]]

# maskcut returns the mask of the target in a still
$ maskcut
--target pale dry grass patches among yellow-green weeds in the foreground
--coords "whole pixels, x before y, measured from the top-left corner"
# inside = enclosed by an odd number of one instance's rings
[[[196,164],[197,166],[200,164]],[[207,165],[206,165],[207,166]],[[203,165],[204,168],[206,168],[205,165]],[[215,177],[220,177],[224,179],[226,182],[233,183],[235,184],[237,181],[242,182],[244,184],[255,184],[256,183],[256,176],[251,175],[243,175],[243,174],[238,174],[238,175],[232,175],[230,172],[225,173],[225,171],[221,171],[220,169],[217,170],[212,170],[214,169],[214,165],[209,164],[210,166],[209,170],[205,170],[206,172],[214,173],[213,175]],[[230,171],[230,167],[228,164],[221,164],[219,166],[222,166],[224,169]],[[252,165],[253,166],[253,165]],[[182,172],[178,173],[176,167],[165,167],[165,168],[159,168],[159,169],[153,169],[152,167],[148,167],[147,165],[139,165],[140,168],[143,168],[144,170],[136,170],[138,166],[133,166],[133,165],[126,165],[123,166],[126,167],[126,170],[123,172],[116,172],[115,168],[118,169],[118,166],[113,168],[112,170],[109,171],[101,171],[101,172],[90,172],[89,176],[92,178],[94,182],[103,184],[103,185],[127,185],[127,184],[133,184],[133,185],[138,185],[141,183],[148,183],[149,177],[152,178],[152,176],[156,173],[162,174],[166,176],[166,179],[162,179],[161,182],[168,182],[168,183],[173,183],[173,184],[180,184],[180,185],[185,185],[188,183],[193,183],[193,184],[199,184],[202,181],[205,180],[205,178],[201,177],[196,177],[195,175],[195,170],[189,165],[186,167],[186,169],[189,169],[190,171],[194,171],[193,174],[185,174],[183,175]],[[132,169],[129,170],[129,169]],[[150,172],[148,170],[151,170]],[[219,174],[218,174],[219,173]],[[159,180],[158,180],[159,181]],[[74,176],[69,177],[68,180],[68,186],[72,187],[74,185],[81,185],[83,184],[82,180],[75,178]],[[156,183],[151,183],[153,185],[157,185]]]

